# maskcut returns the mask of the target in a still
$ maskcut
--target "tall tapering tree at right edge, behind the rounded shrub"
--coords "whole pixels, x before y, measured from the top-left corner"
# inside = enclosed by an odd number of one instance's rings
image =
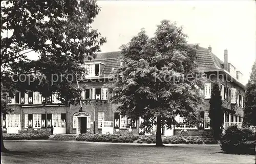
[[[244,126],[256,126],[256,62],[252,65],[250,79],[246,84],[244,100]]]

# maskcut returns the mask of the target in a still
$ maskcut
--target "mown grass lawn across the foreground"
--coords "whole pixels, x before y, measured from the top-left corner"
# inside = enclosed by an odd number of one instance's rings
[[[2,163],[254,163],[254,155],[224,154],[218,145],[5,140]]]

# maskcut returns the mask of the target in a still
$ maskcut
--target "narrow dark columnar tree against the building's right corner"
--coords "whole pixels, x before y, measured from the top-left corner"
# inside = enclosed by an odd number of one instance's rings
[[[222,108],[221,91],[217,83],[213,84],[209,103],[210,103],[210,109],[209,109],[210,127],[212,128],[214,137],[216,139],[219,139],[220,134],[222,133],[224,112]]]

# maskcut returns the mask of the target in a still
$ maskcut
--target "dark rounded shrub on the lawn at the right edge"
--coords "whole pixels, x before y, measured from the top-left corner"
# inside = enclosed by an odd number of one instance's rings
[[[221,139],[221,148],[232,154],[255,154],[254,134],[250,129],[228,127]]]

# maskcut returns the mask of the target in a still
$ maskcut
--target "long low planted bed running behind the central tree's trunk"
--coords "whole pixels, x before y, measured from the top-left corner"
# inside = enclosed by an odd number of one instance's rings
[[[155,135],[122,135],[122,134],[80,134],[76,140],[107,143],[156,143]],[[214,138],[203,136],[162,136],[164,144],[218,144]]]

